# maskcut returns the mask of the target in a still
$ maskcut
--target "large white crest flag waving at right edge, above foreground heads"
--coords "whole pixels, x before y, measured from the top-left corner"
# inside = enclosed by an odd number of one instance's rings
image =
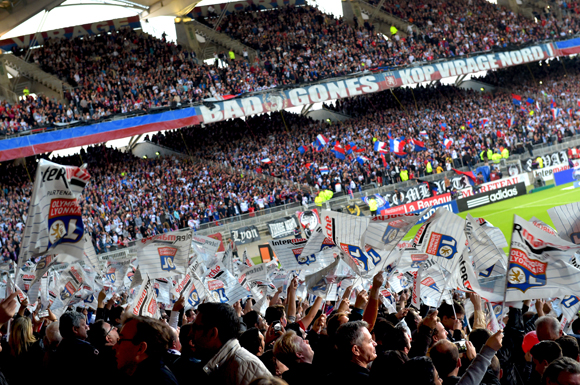
[[[578,293],[580,270],[568,263],[578,249],[514,215],[506,301]]]

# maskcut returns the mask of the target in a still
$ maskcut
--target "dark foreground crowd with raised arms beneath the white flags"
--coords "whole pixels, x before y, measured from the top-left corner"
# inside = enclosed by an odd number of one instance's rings
[[[382,273],[369,292],[345,290],[336,301],[312,305],[297,296],[296,279],[255,301],[202,303],[185,309],[180,298],[161,320],[130,315],[127,296],[96,311],[69,308],[30,313],[16,293],[0,303],[0,383],[41,381],[46,371],[84,383],[224,385],[384,384],[575,385],[580,382],[580,321],[565,334],[550,301],[513,303],[505,327],[492,333],[481,297],[456,293],[438,309],[410,307],[411,293],[394,293],[396,309],[382,303]],[[387,284],[388,286],[388,284]],[[351,297],[351,294],[356,294]],[[351,300],[353,302],[351,302]],[[10,321],[10,322],[8,322]],[[35,370],[27,370],[34,367]],[[86,376],[87,368],[98,368]]]

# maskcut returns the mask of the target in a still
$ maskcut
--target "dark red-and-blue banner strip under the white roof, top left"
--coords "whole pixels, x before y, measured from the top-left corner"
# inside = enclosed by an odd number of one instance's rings
[[[11,51],[14,47],[28,47],[31,41],[35,41],[36,45],[44,44],[47,39],[73,39],[79,36],[92,36],[106,33],[109,31],[119,30],[121,28],[141,28],[139,16],[125,17],[122,19],[114,19],[107,21],[99,21],[96,23],[75,25],[74,27],[54,29],[52,31],[38,32],[26,36],[18,36],[10,39],[0,40],[0,49],[4,51]]]

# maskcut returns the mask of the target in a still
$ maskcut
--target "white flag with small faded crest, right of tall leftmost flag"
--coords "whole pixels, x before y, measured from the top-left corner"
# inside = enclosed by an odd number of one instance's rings
[[[193,230],[171,231],[137,243],[141,274],[151,279],[185,274]]]

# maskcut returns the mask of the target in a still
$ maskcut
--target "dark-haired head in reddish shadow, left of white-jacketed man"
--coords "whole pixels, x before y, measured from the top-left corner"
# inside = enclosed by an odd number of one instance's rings
[[[165,324],[149,317],[128,318],[119,333],[113,350],[117,368],[131,376],[148,358],[161,360],[170,347],[171,335]]]

